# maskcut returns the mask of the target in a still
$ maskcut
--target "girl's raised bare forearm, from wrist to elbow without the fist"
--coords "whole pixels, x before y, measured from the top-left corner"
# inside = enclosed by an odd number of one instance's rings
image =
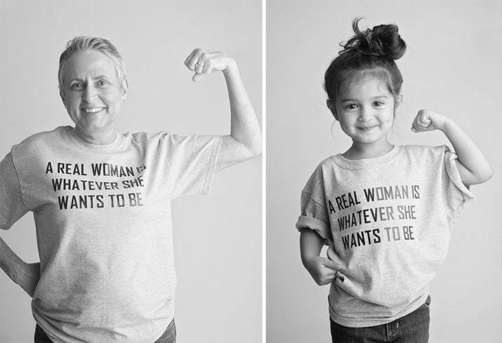
[[[490,162],[476,143],[453,120],[447,119],[440,128],[448,137],[458,161],[465,170],[459,170],[464,184],[481,184],[492,176]]]

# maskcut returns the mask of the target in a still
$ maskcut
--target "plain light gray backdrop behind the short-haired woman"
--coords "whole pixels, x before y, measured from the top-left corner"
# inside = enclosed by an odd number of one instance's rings
[[[39,131],[73,124],[58,95],[58,58],[78,34],[118,47],[130,88],[122,131],[226,134],[221,73],[192,82],[195,47],[239,65],[261,113],[261,1],[0,2],[0,154]],[[261,341],[261,159],[217,173],[212,193],[173,202],[178,342]],[[27,214],[1,232],[38,261]],[[0,272],[0,341],[33,342],[30,298]]]

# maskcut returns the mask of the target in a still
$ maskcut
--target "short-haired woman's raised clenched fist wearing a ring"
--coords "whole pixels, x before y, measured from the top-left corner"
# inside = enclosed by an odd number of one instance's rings
[[[195,71],[192,80],[198,81],[204,75],[213,71],[229,72],[237,68],[237,63],[233,58],[223,52],[213,52],[206,49],[194,49],[185,60],[185,65],[191,71]]]

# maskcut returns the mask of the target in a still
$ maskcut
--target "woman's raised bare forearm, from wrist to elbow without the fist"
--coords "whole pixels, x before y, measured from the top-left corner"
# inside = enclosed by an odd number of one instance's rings
[[[251,100],[233,61],[223,71],[230,100],[230,137],[248,150],[249,158],[261,153],[261,129]]]

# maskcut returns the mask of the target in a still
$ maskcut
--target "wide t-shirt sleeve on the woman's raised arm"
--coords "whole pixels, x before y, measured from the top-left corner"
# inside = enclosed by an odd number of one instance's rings
[[[221,146],[221,136],[168,135],[171,199],[210,192]]]

